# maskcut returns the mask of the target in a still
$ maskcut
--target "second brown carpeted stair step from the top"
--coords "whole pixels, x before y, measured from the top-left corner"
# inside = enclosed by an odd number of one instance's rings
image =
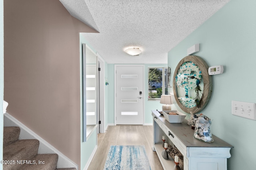
[[[18,140],[3,147],[3,160],[14,160],[15,164],[4,164],[3,170],[17,170],[23,164],[20,160],[32,160],[38,152],[39,141],[36,139]]]

